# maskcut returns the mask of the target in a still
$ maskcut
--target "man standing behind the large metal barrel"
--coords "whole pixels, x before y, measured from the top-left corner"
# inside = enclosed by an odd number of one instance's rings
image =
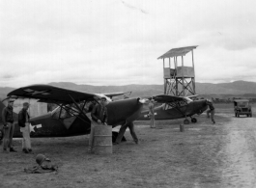
[[[96,125],[107,125],[107,109],[106,109],[106,97],[100,98],[100,103],[94,106],[91,112],[91,133],[89,140],[89,151],[92,152],[94,148],[94,127]]]

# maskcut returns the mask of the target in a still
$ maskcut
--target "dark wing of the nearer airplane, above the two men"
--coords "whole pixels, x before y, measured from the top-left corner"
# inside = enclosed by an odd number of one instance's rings
[[[73,103],[87,99],[94,99],[95,94],[71,91],[49,85],[31,85],[14,90],[8,96],[18,96],[40,99],[47,103]]]

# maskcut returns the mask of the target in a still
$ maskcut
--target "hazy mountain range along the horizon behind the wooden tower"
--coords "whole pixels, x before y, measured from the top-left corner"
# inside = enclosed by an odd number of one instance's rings
[[[114,92],[129,92],[130,96],[156,95],[163,94],[163,85],[138,85],[131,84],[126,86],[92,86],[92,85],[77,85],[71,82],[51,82],[51,86],[67,88],[74,91],[86,93],[114,93]],[[228,95],[246,95],[256,96],[256,82],[236,81],[231,83],[196,83],[197,94],[228,94]],[[14,88],[1,88],[0,97],[6,97],[6,94],[13,91]]]

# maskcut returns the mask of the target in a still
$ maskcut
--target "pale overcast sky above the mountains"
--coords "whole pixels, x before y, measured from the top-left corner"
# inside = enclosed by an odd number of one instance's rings
[[[256,82],[255,7],[253,0],[2,0],[0,87],[163,84],[157,58],[191,45],[196,82]]]

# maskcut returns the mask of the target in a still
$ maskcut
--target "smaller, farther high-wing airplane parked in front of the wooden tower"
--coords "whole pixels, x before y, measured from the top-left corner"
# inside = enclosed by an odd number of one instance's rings
[[[176,120],[185,118],[184,123],[189,124],[187,118],[191,119],[191,122],[197,122],[194,115],[200,115],[208,106],[205,99],[192,100],[191,96],[173,96],[159,94],[153,97],[157,103],[161,103],[155,107],[155,120]],[[149,110],[144,109],[138,120],[149,120]]]

